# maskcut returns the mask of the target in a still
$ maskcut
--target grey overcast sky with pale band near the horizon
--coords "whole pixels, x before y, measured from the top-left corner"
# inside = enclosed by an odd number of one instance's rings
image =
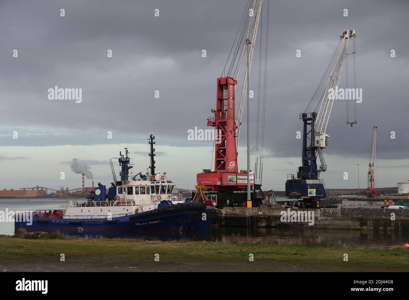
[[[216,105],[216,78],[246,4],[247,0],[0,1],[0,188],[79,187],[81,178],[70,169],[73,158],[88,163],[96,182],[109,184],[108,159],[123,147],[130,148],[134,171],[146,171],[150,132],[157,138],[157,169],[172,174],[178,187],[193,188],[196,173],[210,168],[213,142],[189,141],[187,131],[207,128],[206,118]],[[65,9],[64,17],[60,9]],[[360,187],[365,188],[374,125],[378,186],[396,187],[409,178],[408,12],[405,0],[270,1],[264,189],[284,190],[287,173],[299,166],[299,113],[348,28],[357,34],[356,82],[362,88],[362,103],[357,104],[357,124],[351,128],[346,124],[346,103],[335,101],[327,127],[330,142],[324,150],[328,171],[321,178],[327,188],[357,187],[360,164]],[[267,0],[263,13],[263,35],[258,39],[264,43]],[[250,73],[250,89],[255,91],[250,99],[253,149],[258,42]],[[13,57],[15,49],[18,57]],[[343,73],[340,87],[345,87]],[[49,100],[48,89],[54,86],[81,88],[82,102]],[[243,124],[244,120],[246,114]],[[240,135],[239,169],[246,169],[245,128]],[[253,155],[252,164],[254,159]],[[62,171],[65,181],[60,180]]]

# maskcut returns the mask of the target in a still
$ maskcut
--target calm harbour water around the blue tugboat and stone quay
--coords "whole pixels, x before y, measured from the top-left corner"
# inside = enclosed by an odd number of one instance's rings
[[[65,209],[68,199],[1,199],[0,211],[35,211],[39,209]],[[374,232],[340,229],[314,229],[311,227],[246,228],[216,227],[188,233],[121,233],[121,232],[62,232],[72,238],[145,238],[148,240],[208,240],[218,242],[265,242],[267,244],[322,244],[346,247],[390,248],[409,242],[406,232]],[[13,235],[13,222],[0,222],[0,234]]]

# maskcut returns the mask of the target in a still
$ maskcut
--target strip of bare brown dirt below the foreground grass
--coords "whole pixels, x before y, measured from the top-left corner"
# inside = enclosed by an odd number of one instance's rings
[[[57,260],[57,261],[56,261]],[[294,261],[212,261],[189,260],[185,262],[152,262],[123,258],[78,258],[60,262],[50,257],[4,257],[0,259],[0,271],[32,271],[32,272],[354,272],[376,271],[375,267],[328,266],[325,264],[308,264]]]

